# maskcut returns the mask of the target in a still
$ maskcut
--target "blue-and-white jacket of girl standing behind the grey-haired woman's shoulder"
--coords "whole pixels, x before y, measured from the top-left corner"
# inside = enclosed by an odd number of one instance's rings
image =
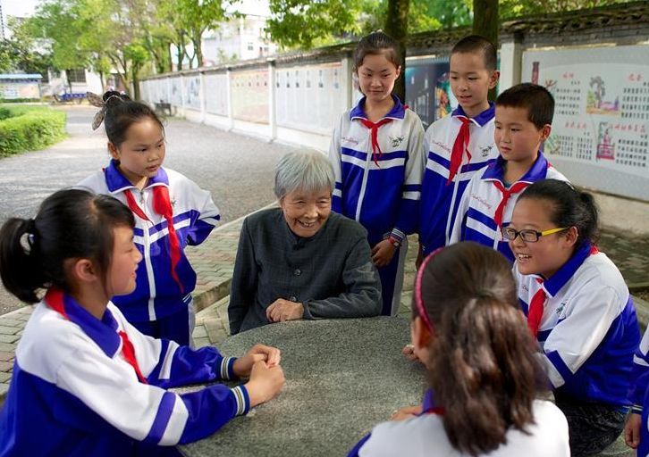
[[[332,209],[367,228],[370,245],[390,235],[401,241],[417,224],[424,128],[415,112],[392,98],[384,117],[391,121],[377,130],[378,147],[373,150],[371,129],[362,123],[363,97],[342,114],[329,150],[336,179]]]

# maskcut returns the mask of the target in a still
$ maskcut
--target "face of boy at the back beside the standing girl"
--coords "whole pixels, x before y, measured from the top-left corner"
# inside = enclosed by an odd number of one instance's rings
[[[498,71],[485,67],[480,53],[451,54],[451,90],[468,117],[476,117],[489,108],[487,94],[496,87]]]

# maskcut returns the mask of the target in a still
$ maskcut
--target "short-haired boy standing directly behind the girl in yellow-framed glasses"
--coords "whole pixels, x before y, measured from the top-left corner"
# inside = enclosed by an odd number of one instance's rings
[[[545,87],[518,84],[496,100],[495,143],[501,155],[468,182],[451,229],[450,243],[476,241],[514,262],[502,228],[523,190],[541,179],[567,181],[545,160],[541,145],[550,136],[554,99]]]

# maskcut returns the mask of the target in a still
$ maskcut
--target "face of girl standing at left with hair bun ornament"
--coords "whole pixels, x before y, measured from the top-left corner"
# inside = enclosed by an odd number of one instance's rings
[[[121,145],[108,143],[108,149],[120,162],[122,174],[133,186],[142,188],[164,161],[164,132],[156,120],[145,117],[131,124]]]

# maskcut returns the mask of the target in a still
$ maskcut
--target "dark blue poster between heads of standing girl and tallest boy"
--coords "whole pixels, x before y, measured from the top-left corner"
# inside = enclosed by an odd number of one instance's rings
[[[458,105],[451,92],[448,59],[409,60],[406,66],[406,104],[427,129]]]

